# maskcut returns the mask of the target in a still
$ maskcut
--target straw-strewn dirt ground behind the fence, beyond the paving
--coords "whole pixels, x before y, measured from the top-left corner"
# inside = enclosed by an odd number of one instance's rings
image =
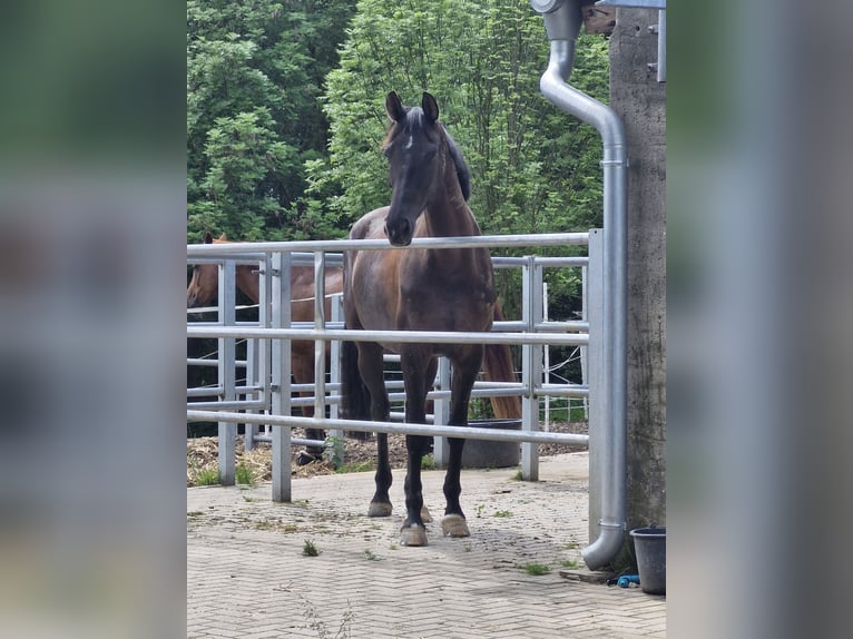
[[[587,432],[586,422],[563,422],[550,424],[549,431],[556,433],[582,433]],[[295,436],[304,436],[301,429],[294,429]],[[375,435],[370,435],[369,441],[346,439],[345,442],[345,468],[350,470],[372,470],[376,456]],[[302,446],[294,446],[293,476],[307,478],[335,473],[334,466],[327,461],[315,461],[306,465],[297,465],[297,458]],[[559,444],[540,444],[539,455],[550,456],[560,453],[569,453],[584,450],[578,446]],[[389,435],[389,456],[392,469],[405,468],[405,435]],[[237,435],[237,466],[243,465],[251,471],[254,481],[269,481],[272,479],[272,451],[269,444],[257,444],[256,450],[246,452],[243,448],[243,435]],[[216,438],[196,438],[187,440],[187,486],[199,485],[199,475],[205,471],[214,471],[217,468]],[[209,473],[208,473],[209,474]]]

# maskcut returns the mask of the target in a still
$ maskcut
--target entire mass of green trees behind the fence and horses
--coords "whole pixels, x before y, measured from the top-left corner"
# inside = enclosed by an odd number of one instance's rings
[[[342,237],[386,205],[392,89],[406,105],[438,98],[484,233],[601,226],[600,140],[539,94],[548,50],[528,0],[189,0],[188,240]],[[607,41],[581,36],[572,86],[606,101],[608,75]],[[571,317],[577,273],[546,281],[551,316]],[[520,316],[519,274],[499,271],[498,287]]]

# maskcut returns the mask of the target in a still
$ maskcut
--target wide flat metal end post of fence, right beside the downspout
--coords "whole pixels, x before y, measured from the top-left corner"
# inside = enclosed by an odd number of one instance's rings
[[[601,519],[604,446],[607,433],[605,396],[605,247],[604,232],[589,232],[589,266],[585,286],[584,312],[589,322],[589,346],[587,347],[587,372],[589,384],[589,539],[599,535]]]

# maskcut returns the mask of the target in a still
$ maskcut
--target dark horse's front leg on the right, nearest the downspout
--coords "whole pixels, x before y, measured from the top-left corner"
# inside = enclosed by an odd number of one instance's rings
[[[450,383],[450,424],[464,426],[468,424],[468,403],[471,400],[471,389],[477,380],[477,374],[482,364],[482,346],[467,348],[462,354],[453,358],[453,379]],[[462,451],[465,441],[451,438],[450,459],[448,472],[444,475],[444,499],[447,508],[444,518],[441,520],[441,529],[445,535],[468,537],[471,534],[465,523],[465,515],[459,503],[462,492],[460,474],[462,472]]]

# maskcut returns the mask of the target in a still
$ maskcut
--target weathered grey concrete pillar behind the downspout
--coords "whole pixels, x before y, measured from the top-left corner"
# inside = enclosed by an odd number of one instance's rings
[[[666,524],[666,83],[658,12],[619,9],[610,106],[628,137],[628,527]]]

